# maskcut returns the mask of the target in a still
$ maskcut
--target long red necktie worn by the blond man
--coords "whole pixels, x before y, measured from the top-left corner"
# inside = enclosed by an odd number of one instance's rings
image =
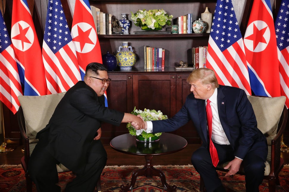
[[[213,165],[216,167],[219,163],[219,157],[215,145],[212,141],[212,108],[210,105],[210,100],[207,100],[206,105],[206,112],[207,112],[207,122],[208,122],[208,132],[209,132],[209,139],[210,139],[210,154],[212,158]]]

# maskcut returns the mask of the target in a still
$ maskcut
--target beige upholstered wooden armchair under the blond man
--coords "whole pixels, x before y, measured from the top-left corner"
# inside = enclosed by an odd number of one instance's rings
[[[257,126],[267,138],[268,155],[265,162],[264,179],[268,180],[269,192],[276,191],[276,185],[280,185],[278,174],[284,166],[284,161],[280,157],[281,136],[287,123],[287,108],[285,106],[285,96],[262,97],[248,96],[253,106],[257,119]],[[223,169],[227,163],[218,164],[217,170],[228,172]],[[242,166],[236,174],[244,175]],[[200,178],[200,191],[204,191],[203,179]]]

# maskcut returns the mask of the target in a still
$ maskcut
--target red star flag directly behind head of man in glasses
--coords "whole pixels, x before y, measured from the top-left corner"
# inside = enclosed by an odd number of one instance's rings
[[[102,63],[100,43],[88,0],[75,1],[71,36],[76,49],[81,79],[83,80],[86,66],[89,63]],[[104,96],[105,106],[107,107],[106,92]]]

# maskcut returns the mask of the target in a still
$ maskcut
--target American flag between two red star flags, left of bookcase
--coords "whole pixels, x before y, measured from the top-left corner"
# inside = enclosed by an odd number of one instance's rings
[[[77,56],[60,0],[50,0],[42,46],[47,93],[67,91],[81,80]]]

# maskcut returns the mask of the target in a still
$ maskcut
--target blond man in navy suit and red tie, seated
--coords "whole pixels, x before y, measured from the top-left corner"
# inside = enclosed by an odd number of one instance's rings
[[[206,190],[225,191],[215,166],[218,161],[230,161],[225,167],[230,169],[226,176],[235,174],[243,162],[246,191],[259,191],[268,148],[265,136],[257,128],[257,120],[245,91],[219,86],[214,71],[207,68],[195,69],[187,82],[191,85],[192,93],[187,96],[181,110],[173,118],[145,122],[145,129],[148,133],[170,132],[192,120],[202,141],[201,147],[192,155],[192,164],[203,178]],[[208,136],[206,115],[208,102],[212,109],[211,138]],[[210,139],[217,150],[215,166],[209,151]]]

